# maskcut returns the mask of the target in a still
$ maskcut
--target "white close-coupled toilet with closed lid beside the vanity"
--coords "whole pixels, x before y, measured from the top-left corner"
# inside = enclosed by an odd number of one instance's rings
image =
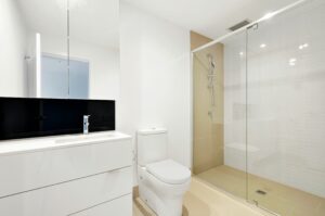
[[[187,167],[167,158],[167,130],[138,131],[140,198],[158,216],[181,216],[183,196],[191,183]]]

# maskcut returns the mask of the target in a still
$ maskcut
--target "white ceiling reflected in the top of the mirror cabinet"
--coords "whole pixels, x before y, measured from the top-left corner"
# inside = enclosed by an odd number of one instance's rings
[[[16,0],[29,29],[66,37],[66,0]],[[119,47],[119,0],[70,0],[70,37]]]

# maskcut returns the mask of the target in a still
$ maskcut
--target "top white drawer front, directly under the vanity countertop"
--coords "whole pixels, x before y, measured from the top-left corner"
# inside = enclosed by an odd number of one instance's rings
[[[131,139],[0,156],[0,198],[132,164]]]

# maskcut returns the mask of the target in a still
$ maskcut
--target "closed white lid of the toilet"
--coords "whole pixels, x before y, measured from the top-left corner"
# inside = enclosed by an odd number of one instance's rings
[[[166,183],[184,183],[191,178],[190,169],[172,160],[148,164],[146,170]]]

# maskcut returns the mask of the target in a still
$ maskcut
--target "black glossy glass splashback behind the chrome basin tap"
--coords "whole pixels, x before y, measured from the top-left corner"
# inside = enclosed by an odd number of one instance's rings
[[[115,101],[0,98],[0,140],[115,130]]]

